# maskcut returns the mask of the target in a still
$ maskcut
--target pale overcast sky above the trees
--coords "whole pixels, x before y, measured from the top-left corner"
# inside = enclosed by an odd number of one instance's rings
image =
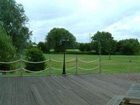
[[[24,6],[36,42],[54,27],[69,30],[78,42],[89,42],[97,31],[108,31],[116,40],[140,40],[140,0],[16,1]]]

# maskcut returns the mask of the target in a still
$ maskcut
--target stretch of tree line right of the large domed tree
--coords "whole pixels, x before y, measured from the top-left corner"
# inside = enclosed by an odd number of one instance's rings
[[[90,43],[80,43],[80,51],[95,51],[99,52],[101,47],[101,53],[105,55],[120,54],[120,55],[136,55],[140,51],[140,43],[138,39],[123,39],[114,40],[112,34],[109,32],[97,32],[91,37]]]

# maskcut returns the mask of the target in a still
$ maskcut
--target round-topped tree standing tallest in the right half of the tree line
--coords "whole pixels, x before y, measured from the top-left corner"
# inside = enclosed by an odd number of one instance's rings
[[[101,53],[108,54],[110,59],[110,55],[113,53],[113,48],[115,46],[115,41],[113,40],[111,33],[98,31],[92,37],[92,44],[96,53],[99,52],[99,47],[101,47]]]

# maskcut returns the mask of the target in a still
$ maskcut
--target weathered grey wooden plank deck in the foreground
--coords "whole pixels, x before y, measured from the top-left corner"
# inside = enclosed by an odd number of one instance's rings
[[[0,105],[106,105],[135,82],[140,74],[1,77]]]

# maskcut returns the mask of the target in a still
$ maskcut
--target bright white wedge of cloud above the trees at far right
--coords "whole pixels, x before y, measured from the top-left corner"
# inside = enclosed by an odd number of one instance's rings
[[[125,17],[106,27],[104,31],[113,33],[116,39],[137,38],[140,40],[140,13]]]

